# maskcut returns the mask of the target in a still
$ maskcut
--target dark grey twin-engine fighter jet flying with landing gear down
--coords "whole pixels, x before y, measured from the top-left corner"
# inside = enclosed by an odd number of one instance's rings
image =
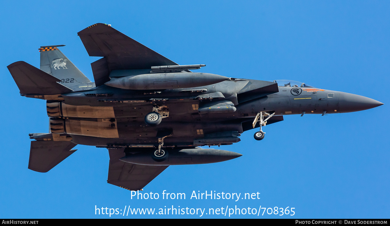
[[[41,46],[40,68],[8,65],[21,96],[46,100],[49,133],[30,133],[28,168],[48,172],[73,148],[107,148],[107,182],[141,190],[170,165],[215,163],[241,154],[204,146],[229,145],[241,133],[283,121],[284,115],[336,114],[383,103],[304,82],[259,81],[192,72],[112,28],[78,32],[91,63],[91,82],[59,50]]]

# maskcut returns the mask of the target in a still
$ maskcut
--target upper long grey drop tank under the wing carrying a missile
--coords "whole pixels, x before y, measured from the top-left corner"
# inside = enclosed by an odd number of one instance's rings
[[[105,84],[121,89],[177,89],[208,86],[227,79],[229,78],[209,73],[177,72],[112,78]]]

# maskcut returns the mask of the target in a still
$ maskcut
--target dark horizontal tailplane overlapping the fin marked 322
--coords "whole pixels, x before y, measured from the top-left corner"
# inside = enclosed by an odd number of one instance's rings
[[[60,79],[50,75],[24,61],[7,66],[21,94],[54,95],[73,91],[59,84]]]

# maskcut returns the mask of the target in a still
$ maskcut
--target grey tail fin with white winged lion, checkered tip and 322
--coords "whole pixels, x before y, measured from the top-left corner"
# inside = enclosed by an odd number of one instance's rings
[[[74,64],[58,49],[59,46],[41,46],[41,67],[44,72],[61,80],[60,84],[74,91],[95,87]]]

